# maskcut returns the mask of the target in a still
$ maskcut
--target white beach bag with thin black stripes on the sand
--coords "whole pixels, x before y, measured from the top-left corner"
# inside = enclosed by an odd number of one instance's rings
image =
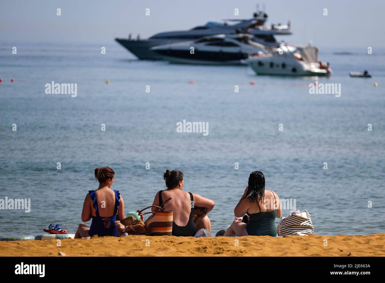
[[[307,210],[302,212],[295,210],[288,217],[282,217],[277,227],[278,236],[305,236],[313,234],[313,232],[313,223],[311,223],[310,214]]]

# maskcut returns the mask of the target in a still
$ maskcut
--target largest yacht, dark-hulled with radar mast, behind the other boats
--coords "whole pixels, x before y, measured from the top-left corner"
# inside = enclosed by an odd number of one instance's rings
[[[132,52],[136,57],[143,60],[162,60],[163,57],[151,50],[157,45],[171,44],[182,41],[200,39],[208,35],[234,34],[247,32],[254,35],[254,41],[266,46],[279,46],[275,35],[290,35],[290,24],[265,26],[268,15],[261,10],[253,13],[252,18],[230,19],[224,22],[208,22],[206,25],[194,27],[190,30],[161,32],[152,35],[149,39],[116,38],[115,40]],[[230,22],[230,23],[228,23]]]

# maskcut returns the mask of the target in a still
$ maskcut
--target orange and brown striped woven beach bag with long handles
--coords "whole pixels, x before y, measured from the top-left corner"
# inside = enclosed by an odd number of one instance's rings
[[[150,236],[171,236],[172,235],[172,210],[166,211],[164,207],[171,203],[171,198],[168,198],[163,202],[162,206],[148,206],[141,211],[138,211],[139,215],[142,216],[147,213],[152,213],[152,215],[146,220],[147,231]],[[144,210],[157,207],[157,212],[146,212]]]

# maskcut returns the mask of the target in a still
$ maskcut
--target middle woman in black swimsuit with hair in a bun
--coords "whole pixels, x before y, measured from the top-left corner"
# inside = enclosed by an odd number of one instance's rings
[[[214,201],[183,191],[183,172],[179,170],[167,170],[163,178],[167,189],[156,193],[152,205],[160,206],[163,201],[172,198],[171,203],[166,206],[166,210],[173,211],[172,236],[194,236],[197,227],[209,229],[211,225],[208,226],[210,220],[207,214],[214,208]],[[204,211],[193,220],[191,208],[194,206],[204,208]],[[156,212],[157,208],[152,208],[152,211]]]

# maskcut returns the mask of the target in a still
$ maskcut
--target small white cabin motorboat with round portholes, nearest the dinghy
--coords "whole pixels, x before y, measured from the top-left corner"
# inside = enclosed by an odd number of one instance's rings
[[[330,76],[330,65],[318,60],[318,48],[283,44],[269,54],[244,60],[257,75]]]

